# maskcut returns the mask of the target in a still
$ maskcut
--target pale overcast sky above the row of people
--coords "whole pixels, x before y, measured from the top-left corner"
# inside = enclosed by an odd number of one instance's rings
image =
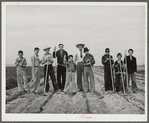
[[[78,43],[84,43],[102,65],[105,48],[117,53],[134,49],[137,64],[145,63],[145,7],[143,6],[56,6],[7,5],[6,64],[14,65],[18,50],[23,50],[28,65],[34,48],[42,58],[45,46],[50,52],[63,43],[68,54],[75,55]],[[122,58],[122,59],[123,59]]]

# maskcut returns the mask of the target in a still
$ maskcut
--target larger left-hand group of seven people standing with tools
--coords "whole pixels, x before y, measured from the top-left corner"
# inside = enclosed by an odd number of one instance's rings
[[[42,60],[40,60],[38,56],[40,49],[38,47],[34,49],[34,55],[31,57],[32,81],[29,84],[25,72],[25,67],[27,65],[26,59],[23,57],[23,51],[18,52],[19,58],[16,59],[15,64],[17,67],[18,89],[20,92],[26,91],[38,94],[40,87],[40,64],[44,65],[45,90],[43,95],[46,96],[49,92],[49,76],[52,81],[54,92],[66,93],[70,90],[73,93],[78,91],[83,93],[91,92],[91,94],[93,94],[95,92],[95,82],[92,70],[95,59],[93,55],[89,53],[89,49],[85,47],[85,44],[77,44],[76,47],[79,49],[79,52],[75,55],[75,59],[73,60],[73,55],[68,56],[67,51],[65,51],[63,47],[63,44],[59,44],[59,50],[56,51],[55,47],[53,54],[51,54],[51,47],[46,46],[43,49],[45,54]],[[57,58],[57,82],[52,66],[54,62],[53,58]],[[77,85],[75,85],[75,72],[77,72]],[[88,80],[89,78],[90,81]]]

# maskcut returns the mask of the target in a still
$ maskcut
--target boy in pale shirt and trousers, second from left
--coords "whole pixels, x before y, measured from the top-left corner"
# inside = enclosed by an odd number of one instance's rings
[[[37,94],[40,88],[39,67],[40,67],[41,61],[38,56],[39,50],[40,49],[38,47],[35,47],[34,49],[35,54],[31,57],[33,82],[30,84],[30,91],[35,94]]]

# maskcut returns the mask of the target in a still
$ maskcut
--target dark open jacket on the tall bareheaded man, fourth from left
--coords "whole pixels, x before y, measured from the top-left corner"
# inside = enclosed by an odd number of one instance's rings
[[[58,50],[56,52],[56,56],[55,56],[55,52],[53,52],[53,58],[57,57],[57,63],[58,64],[65,64],[64,63],[64,55],[66,56],[66,62],[68,61],[68,53],[65,50]]]

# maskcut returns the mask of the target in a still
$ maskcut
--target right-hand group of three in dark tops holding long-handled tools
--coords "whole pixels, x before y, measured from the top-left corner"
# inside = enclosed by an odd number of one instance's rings
[[[129,55],[125,56],[124,61],[122,61],[122,54],[118,53],[117,60],[114,63],[113,57],[110,55],[110,49],[105,49],[102,64],[104,65],[105,91],[107,93],[112,93],[112,91],[120,92],[121,90],[123,90],[123,92],[129,92],[130,78],[132,92],[137,93],[137,62],[136,58],[133,56],[133,52],[133,49],[129,49]]]

